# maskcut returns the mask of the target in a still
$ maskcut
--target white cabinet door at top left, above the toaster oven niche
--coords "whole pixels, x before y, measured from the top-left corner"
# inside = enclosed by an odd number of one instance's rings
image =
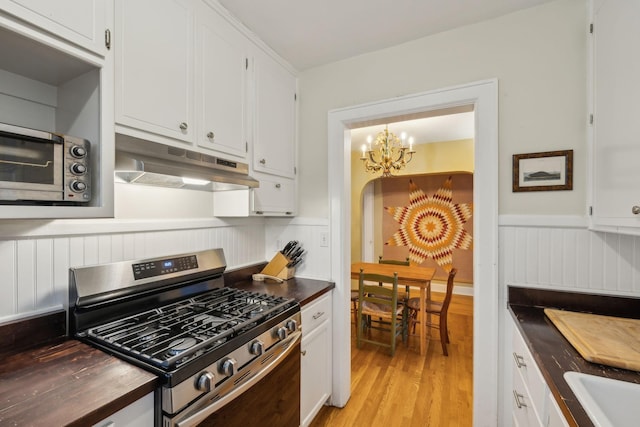
[[[101,56],[106,55],[108,0],[10,0],[2,9]]]

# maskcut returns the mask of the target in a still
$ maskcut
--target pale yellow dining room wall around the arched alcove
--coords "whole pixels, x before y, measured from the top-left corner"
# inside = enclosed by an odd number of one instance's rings
[[[415,146],[416,154],[407,167],[397,175],[465,171],[473,172],[473,140],[435,142]],[[362,167],[361,152],[351,153],[351,259],[362,259],[362,191],[370,182],[379,183],[380,174],[373,175]],[[381,191],[375,191],[375,223],[382,224]],[[382,254],[382,237],[376,233],[376,254]]]

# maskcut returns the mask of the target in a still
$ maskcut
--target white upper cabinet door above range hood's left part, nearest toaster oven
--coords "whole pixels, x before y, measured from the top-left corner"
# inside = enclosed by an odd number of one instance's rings
[[[190,3],[117,0],[114,39],[116,122],[193,142]]]

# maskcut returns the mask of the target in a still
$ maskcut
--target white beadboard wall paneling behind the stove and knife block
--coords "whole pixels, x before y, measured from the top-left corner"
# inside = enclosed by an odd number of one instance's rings
[[[326,219],[12,224],[0,224],[0,323],[66,307],[70,267],[223,248],[233,269],[271,259],[278,241],[298,240],[306,253],[297,275],[329,278],[329,247],[320,246]]]

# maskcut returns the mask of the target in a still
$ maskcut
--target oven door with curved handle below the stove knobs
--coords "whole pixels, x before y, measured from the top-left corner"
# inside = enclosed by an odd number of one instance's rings
[[[165,416],[163,426],[299,426],[301,335],[292,333],[240,370],[227,393],[204,395],[172,419]]]

